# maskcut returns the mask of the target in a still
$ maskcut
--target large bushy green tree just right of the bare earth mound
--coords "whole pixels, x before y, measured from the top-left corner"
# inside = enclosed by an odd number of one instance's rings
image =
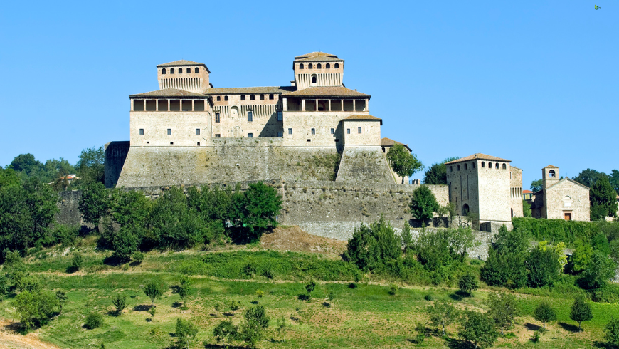
[[[400,238],[393,231],[391,223],[381,215],[379,222],[369,226],[361,223],[359,229],[354,229],[344,255],[359,269],[372,270],[398,259],[402,254],[400,246]]]

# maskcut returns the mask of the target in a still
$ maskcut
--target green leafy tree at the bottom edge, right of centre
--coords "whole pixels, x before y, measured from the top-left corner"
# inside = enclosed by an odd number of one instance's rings
[[[460,319],[460,338],[475,345],[475,348],[490,347],[499,337],[499,333],[494,330],[494,320],[485,313],[477,311],[465,311]]]

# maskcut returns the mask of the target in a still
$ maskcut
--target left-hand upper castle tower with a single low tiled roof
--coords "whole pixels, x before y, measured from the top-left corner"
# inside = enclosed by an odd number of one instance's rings
[[[157,66],[159,90],[176,88],[194,93],[204,93],[211,87],[206,64],[192,61],[174,61]]]

